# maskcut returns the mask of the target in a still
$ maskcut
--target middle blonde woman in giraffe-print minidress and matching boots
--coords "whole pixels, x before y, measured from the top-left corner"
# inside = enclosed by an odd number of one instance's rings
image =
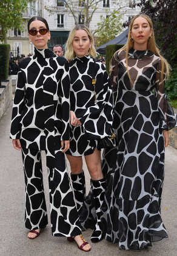
[[[88,27],[73,27],[68,37],[65,58],[70,75],[70,124],[72,138],[66,152],[72,171],[72,183],[79,216],[85,202],[85,178],[82,171],[82,156],[91,176],[95,219],[91,240],[103,238],[101,227],[101,204],[104,199],[105,179],[101,171],[101,151],[98,140],[112,134],[112,89],[105,66],[96,62],[96,51]],[[86,207],[87,208],[87,207]],[[90,214],[90,212],[89,212]],[[83,216],[83,215],[82,215]],[[83,222],[82,222],[83,221]],[[86,229],[84,217],[81,224]]]

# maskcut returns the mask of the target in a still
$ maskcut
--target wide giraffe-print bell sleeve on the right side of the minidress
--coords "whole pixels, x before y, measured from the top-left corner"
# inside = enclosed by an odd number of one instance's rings
[[[113,123],[113,96],[109,76],[105,66],[101,63],[95,63],[95,71],[95,104],[88,105],[79,113],[76,111],[76,116],[81,121],[90,140],[99,140],[111,135]]]

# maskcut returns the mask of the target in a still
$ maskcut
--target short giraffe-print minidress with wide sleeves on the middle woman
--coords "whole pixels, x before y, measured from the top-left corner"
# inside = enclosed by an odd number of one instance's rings
[[[65,68],[70,76],[71,110],[82,123],[82,126],[71,126],[72,138],[67,154],[89,155],[96,148],[97,140],[112,134],[113,97],[109,77],[104,65],[95,62],[90,55],[76,57]]]

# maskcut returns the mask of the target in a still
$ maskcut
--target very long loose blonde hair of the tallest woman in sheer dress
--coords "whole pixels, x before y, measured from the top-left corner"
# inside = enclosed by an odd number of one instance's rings
[[[130,81],[132,82],[132,79],[130,78],[129,69],[128,69],[127,59],[128,59],[129,50],[132,49],[133,45],[134,45],[134,41],[131,40],[131,32],[132,32],[133,23],[136,20],[136,18],[138,18],[138,17],[145,18],[147,20],[147,22],[149,23],[149,26],[150,26],[150,29],[151,29],[151,32],[152,32],[152,36],[149,37],[149,40],[147,41],[147,49],[152,51],[154,54],[158,55],[161,59],[162,69],[161,69],[161,78],[160,78],[160,80],[162,81],[163,80],[163,74],[164,74],[164,68],[167,71],[167,77],[168,77],[169,73],[170,73],[171,66],[169,65],[167,60],[165,60],[165,58],[162,57],[162,55],[160,54],[159,48],[156,45],[155,35],[154,35],[154,31],[153,31],[153,24],[152,24],[152,20],[149,18],[149,16],[145,15],[144,13],[139,13],[138,15],[133,17],[133,19],[130,23],[130,27],[129,27],[129,34],[128,34],[128,38],[127,38],[127,43],[121,49],[119,49],[116,52],[119,52],[119,51],[125,51],[126,52],[127,73],[128,73]],[[116,54],[116,52],[115,52],[115,54]],[[115,57],[115,54],[113,55],[114,57]]]

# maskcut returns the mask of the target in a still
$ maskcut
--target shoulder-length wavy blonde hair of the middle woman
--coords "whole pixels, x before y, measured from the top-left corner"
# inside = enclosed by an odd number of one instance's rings
[[[91,34],[89,28],[85,25],[79,24],[73,27],[73,29],[70,31],[70,34],[68,35],[68,40],[65,44],[65,59],[72,60],[76,57],[75,51],[73,50],[73,39],[75,37],[76,30],[83,29],[85,32],[87,32],[87,35],[89,37],[90,42],[92,42],[91,48],[89,48],[89,55],[93,58],[96,58],[97,53],[94,46],[94,40],[93,35]]]

